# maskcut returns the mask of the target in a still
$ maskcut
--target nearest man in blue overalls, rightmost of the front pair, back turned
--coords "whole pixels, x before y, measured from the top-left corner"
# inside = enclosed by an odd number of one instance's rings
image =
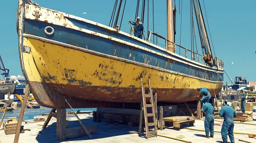
[[[225,106],[221,108],[220,116],[224,117],[224,122],[221,128],[222,140],[224,143],[228,142],[228,136],[231,143],[234,143],[234,121],[233,117],[237,117],[237,113],[235,113],[234,109],[227,105],[227,101],[224,101]],[[227,136],[228,132],[228,136]]]

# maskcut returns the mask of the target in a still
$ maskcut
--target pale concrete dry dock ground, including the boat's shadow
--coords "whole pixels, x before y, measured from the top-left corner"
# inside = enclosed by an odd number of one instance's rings
[[[256,114],[254,113],[254,120],[252,122],[246,122],[251,124],[256,124]],[[137,135],[138,126],[128,127],[127,125],[115,124],[115,123],[106,123],[105,120],[102,120],[101,123],[93,122],[92,115],[88,114],[78,114],[82,119],[82,122],[85,126],[94,125],[97,126],[97,132],[91,133],[92,139],[89,139],[86,135],[80,135],[78,137],[67,138],[63,142],[181,142],[165,137],[155,137],[152,136],[149,139],[139,137]],[[27,122],[27,124],[25,124]],[[76,117],[73,115],[67,115],[68,127],[80,126],[79,122],[76,120]],[[215,122],[219,123],[219,122]],[[56,141],[56,118],[52,117],[52,120],[48,124],[49,126],[46,129],[42,130],[44,122],[33,122],[32,120],[23,121],[24,129],[31,129],[31,131],[25,131],[19,136],[19,142],[58,142]],[[202,129],[204,130],[204,121],[196,120],[195,126],[184,126],[193,129]],[[1,128],[2,129],[2,128]],[[215,131],[221,131],[221,126],[214,126]],[[244,132],[244,133],[254,133],[256,134],[256,125],[245,125],[245,124],[235,124],[235,132]],[[191,142],[222,142],[221,133],[215,132],[214,138],[205,138],[202,137],[204,131],[194,131],[188,129],[181,129],[180,131],[173,130],[172,127],[165,128],[162,131],[157,131],[158,134],[176,137],[179,135],[185,136],[182,138]],[[2,143],[13,142],[15,134],[5,135],[4,130],[0,130],[0,140]],[[246,134],[234,134],[235,142],[241,142],[238,139],[247,140],[250,142],[256,142],[256,139],[249,138]],[[0,141],[0,142],[1,142]],[[228,140],[229,141],[229,140]]]

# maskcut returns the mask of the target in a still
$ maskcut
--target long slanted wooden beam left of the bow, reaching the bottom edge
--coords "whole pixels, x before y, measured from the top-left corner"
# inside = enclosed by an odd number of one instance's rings
[[[17,129],[16,129],[16,133],[15,133],[14,143],[18,143],[19,133],[21,131],[21,126],[22,126],[22,120],[23,120],[26,104],[28,102],[29,91],[30,91],[30,88],[29,88],[29,85],[27,84],[24,99],[23,99],[24,102],[22,102],[21,112],[19,113],[19,117],[18,117],[18,123],[17,123]]]

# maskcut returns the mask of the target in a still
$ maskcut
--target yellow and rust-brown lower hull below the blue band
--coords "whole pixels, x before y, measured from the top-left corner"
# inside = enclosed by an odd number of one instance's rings
[[[157,102],[196,101],[200,94],[196,87],[204,85],[214,95],[223,86],[223,82],[200,80],[38,39],[24,37],[23,45],[31,48],[22,56],[28,83],[36,101],[47,107],[65,107],[64,98],[77,108],[140,103],[141,78],[145,87],[150,78]]]

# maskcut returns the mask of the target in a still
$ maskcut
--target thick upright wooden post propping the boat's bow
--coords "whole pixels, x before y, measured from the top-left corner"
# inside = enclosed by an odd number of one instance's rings
[[[66,109],[57,109],[57,140],[66,139]]]

